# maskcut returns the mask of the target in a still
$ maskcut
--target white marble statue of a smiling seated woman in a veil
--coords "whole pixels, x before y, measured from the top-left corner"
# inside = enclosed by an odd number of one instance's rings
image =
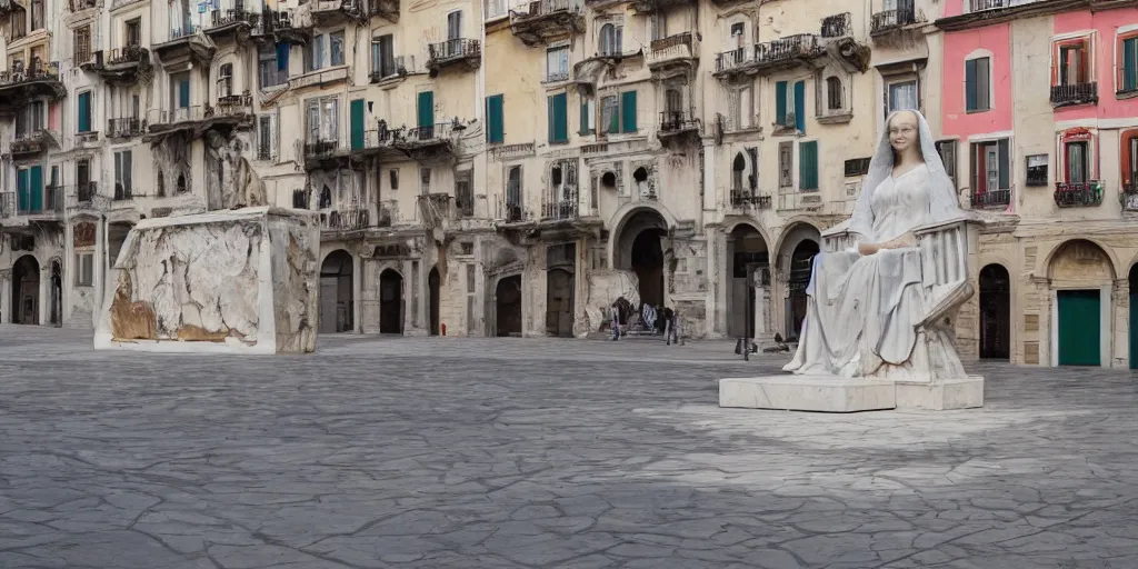
[[[929,123],[913,110],[893,113],[850,216],[847,231],[857,245],[815,256],[798,352],[783,370],[927,377],[912,361],[926,303],[913,231],[962,216]]]

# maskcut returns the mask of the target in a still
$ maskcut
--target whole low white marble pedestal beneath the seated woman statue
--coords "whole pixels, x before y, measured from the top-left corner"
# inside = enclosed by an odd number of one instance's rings
[[[778,374],[719,380],[719,406],[852,413],[889,409],[950,410],[980,407],[984,379],[931,384],[830,376]]]

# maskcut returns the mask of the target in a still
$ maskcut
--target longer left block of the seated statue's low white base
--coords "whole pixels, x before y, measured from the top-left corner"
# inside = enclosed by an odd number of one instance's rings
[[[780,374],[720,379],[719,406],[851,413],[897,405],[892,381]]]

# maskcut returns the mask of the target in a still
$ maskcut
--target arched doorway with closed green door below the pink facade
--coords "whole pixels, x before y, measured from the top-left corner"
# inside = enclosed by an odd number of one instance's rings
[[[1054,291],[1052,363],[1103,365],[1110,361],[1110,308],[1114,267],[1110,256],[1091,241],[1059,246],[1048,264]],[[1104,325],[1106,324],[1106,325]]]

